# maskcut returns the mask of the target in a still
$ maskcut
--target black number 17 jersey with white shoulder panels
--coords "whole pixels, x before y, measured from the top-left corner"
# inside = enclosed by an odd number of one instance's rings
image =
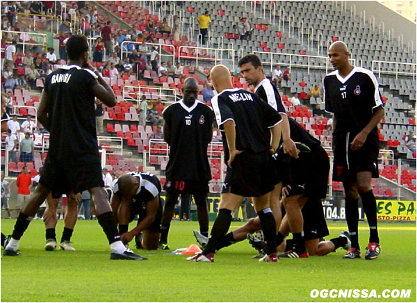
[[[344,79],[338,70],[324,79],[325,110],[334,113],[334,133],[359,133],[370,121],[375,108],[382,106],[378,82],[373,72],[354,67]],[[377,138],[377,128],[372,131]]]

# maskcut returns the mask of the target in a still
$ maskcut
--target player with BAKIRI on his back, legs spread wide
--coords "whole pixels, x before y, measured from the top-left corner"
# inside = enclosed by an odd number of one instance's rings
[[[116,104],[111,87],[88,63],[88,42],[72,35],[66,44],[68,65],[56,69],[44,82],[38,120],[50,133],[49,152],[35,193],[17,218],[6,256],[18,256],[19,240],[49,193],[67,194],[89,190],[97,220],[111,247],[111,259],[140,260],[123,245],[108,195],[101,178],[101,163],[95,129],[94,99],[107,106]]]

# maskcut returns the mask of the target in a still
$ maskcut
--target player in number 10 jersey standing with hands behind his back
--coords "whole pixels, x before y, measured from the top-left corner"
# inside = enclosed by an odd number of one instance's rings
[[[200,232],[208,235],[207,194],[211,170],[207,147],[213,137],[213,110],[197,101],[198,83],[187,78],[183,100],[163,111],[163,138],[170,145],[165,183],[165,206],[161,223],[161,249],[167,245],[168,232],[179,194],[193,195]]]

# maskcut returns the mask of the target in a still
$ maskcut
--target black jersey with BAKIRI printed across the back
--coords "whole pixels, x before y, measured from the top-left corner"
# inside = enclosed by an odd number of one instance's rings
[[[51,128],[48,156],[66,164],[100,161],[95,128],[97,75],[78,65],[65,65],[47,76],[48,120]]]

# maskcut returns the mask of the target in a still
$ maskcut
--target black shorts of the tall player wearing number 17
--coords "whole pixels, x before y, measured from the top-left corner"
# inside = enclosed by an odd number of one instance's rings
[[[350,149],[354,136],[341,133],[333,137],[333,180],[355,180],[358,172],[371,172],[373,178],[379,177],[378,155],[379,142],[368,138],[363,147],[357,151]]]

